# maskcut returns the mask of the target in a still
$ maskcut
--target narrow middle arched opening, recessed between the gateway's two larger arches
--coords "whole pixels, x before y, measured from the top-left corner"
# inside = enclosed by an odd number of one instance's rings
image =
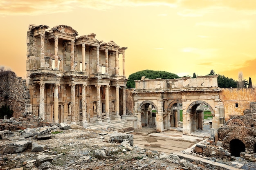
[[[171,127],[178,127],[178,122],[182,121],[182,101],[175,100],[171,102],[167,107],[167,112],[170,112],[170,123]]]

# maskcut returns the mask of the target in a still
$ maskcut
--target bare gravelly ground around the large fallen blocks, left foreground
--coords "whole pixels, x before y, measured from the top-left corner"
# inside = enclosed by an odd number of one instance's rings
[[[45,128],[33,130],[38,132]],[[8,144],[20,140],[20,131],[15,131],[15,136],[9,139],[0,140],[0,170],[187,169],[162,152],[146,150],[136,145],[132,150],[128,150],[121,144],[110,142],[108,135],[100,135],[102,132],[112,133],[112,131],[85,129],[81,126],[72,126],[70,130],[60,130],[57,126],[52,129],[51,139],[37,140],[32,137],[25,139],[32,143],[47,145],[48,149],[42,152],[31,152],[31,148],[27,148],[23,152],[8,153],[11,152]],[[106,156],[95,156],[94,150],[103,150]],[[54,157],[48,168],[39,166],[35,161],[38,155],[42,154]]]

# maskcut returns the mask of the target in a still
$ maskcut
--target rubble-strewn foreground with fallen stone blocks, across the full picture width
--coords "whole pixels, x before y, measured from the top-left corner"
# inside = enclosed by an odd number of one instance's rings
[[[221,141],[214,145],[212,140],[207,139],[179,154],[166,154],[134,145],[132,134],[82,126],[70,126],[66,130],[62,127],[60,124],[52,124],[12,132],[0,131],[0,134],[5,134],[0,140],[0,170],[228,170],[231,166],[234,170],[256,168],[255,162],[250,161],[255,158],[254,155],[244,153],[243,157],[231,157],[227,150],[223,150]],[[7,137],[7,134],[12,135]]]

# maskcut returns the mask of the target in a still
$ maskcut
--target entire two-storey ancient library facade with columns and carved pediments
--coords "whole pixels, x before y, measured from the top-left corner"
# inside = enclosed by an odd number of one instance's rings
[[[80,125],[119,120],[120,112],[125,115],[127,48],[95,36],[78,36],[66,25],[29,25],[27,87],[33,115]]]

